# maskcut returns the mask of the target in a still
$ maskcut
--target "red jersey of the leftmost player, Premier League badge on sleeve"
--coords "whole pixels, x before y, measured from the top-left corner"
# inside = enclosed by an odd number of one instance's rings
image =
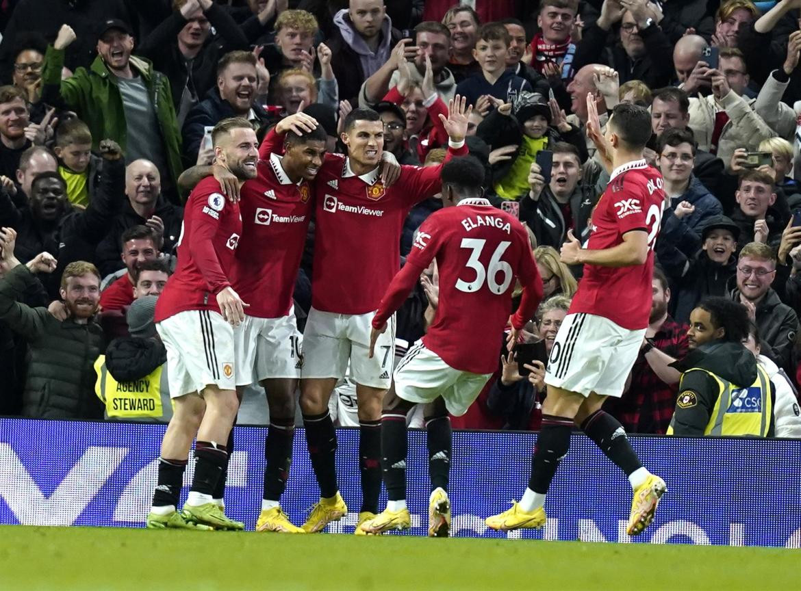
[[[178,239],[178,267],[155,304],[155,321],[186,310],[219,312],[216,295],[230,287],[242,217],[214,177],[200,181],[189,195]]]

